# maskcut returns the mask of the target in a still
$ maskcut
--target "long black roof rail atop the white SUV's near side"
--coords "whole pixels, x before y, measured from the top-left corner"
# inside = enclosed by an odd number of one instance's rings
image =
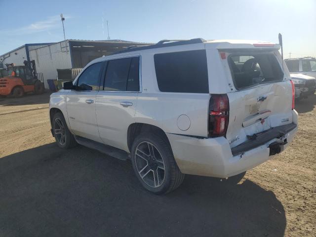
[[[152,49],[152,48],[161,48],[161,47],[171,47],[171,46],[177,46],[177,45],[185,45],[185,44],[193,44],[193,43],[202,43],[205,40],[202,38],[196,38],[196,39],[191,39],[191,40],[160,40],[156,44],[152,45],[131,45],[127,49],[124,49],[122,51],[117,51],[113,52],[113,54],[118,54],[118,53],[127,53],[127,52],[132,52],[132,51],[139,51],[139,50],[145,50],[145,49]]]

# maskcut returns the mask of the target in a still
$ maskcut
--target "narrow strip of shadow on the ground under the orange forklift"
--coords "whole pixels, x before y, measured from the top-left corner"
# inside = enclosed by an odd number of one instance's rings
[[[21,98],[14,98],[13,96],[0,97],[0,106],[48,104],[50,94],[50,92],[41,95],[25,94]]]

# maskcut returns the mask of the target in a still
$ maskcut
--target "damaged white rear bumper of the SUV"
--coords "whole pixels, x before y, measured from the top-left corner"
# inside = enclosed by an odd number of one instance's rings
[[[293,116],[297,116],[297,113],[293,113]],[[297,118],[293,121],[297,121]],[[278,135],[240,153],[235,153],[234,149],[232,151],[224,137],[199,139],[176,134],[167,134],[167,137],[182,173],[226,178],[272,158],[269,145],[274,142],[287,142],[279,146],[280,151],[283,151],[292,142],[296,132],[297,126],[293,126],[291,130],[286,130],[284,135]]]

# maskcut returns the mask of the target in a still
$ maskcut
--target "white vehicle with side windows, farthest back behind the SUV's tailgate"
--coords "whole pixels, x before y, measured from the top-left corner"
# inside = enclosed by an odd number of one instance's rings
[[[303,74],[316,78],[316,58],[291,58],[284,62],[291,74]]]

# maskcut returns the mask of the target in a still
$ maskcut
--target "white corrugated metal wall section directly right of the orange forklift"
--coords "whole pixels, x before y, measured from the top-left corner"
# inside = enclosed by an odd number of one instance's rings
[[[45,88],[49,88],[47,79],[57,78],[57,69],[71,68],[68,40],[30,50],[30,60],[35,60],[38,73],[44,77]]]

